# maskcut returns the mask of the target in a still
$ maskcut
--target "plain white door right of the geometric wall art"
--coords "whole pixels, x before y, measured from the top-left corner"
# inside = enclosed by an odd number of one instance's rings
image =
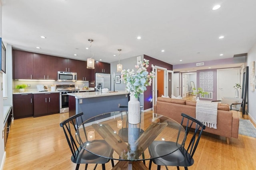
[[[217,99],[235,97],[236,83],[240,84],[240,68],[227,68],[217,70]],[[239,92],[239,97],[241,97]]]

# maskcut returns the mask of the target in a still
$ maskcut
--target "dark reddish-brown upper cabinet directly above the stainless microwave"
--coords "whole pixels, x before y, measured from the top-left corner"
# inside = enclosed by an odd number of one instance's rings
[[[77,72],[78,60],[58,57],[58,71]]]

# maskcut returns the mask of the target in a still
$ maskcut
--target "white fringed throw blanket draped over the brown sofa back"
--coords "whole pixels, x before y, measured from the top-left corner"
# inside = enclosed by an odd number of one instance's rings
[[[218,102],[196,102],[196,119],[206,127],[217,129]]]

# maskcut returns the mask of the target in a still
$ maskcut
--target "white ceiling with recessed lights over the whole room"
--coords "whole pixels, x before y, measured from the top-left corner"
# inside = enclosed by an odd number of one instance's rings
[[[211,61],[256,43],[255,7],[256,0],[2,0],[2,40],[79,60],[94,53],[107,63],[118,61],[119,48],[121,60],[145,54],[173,65]]]

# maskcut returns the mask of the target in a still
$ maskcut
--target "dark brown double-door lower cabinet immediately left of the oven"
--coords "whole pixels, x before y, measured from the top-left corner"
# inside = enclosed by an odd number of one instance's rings
[[[34,117],[60,112],[60,94],[34,94]]]

